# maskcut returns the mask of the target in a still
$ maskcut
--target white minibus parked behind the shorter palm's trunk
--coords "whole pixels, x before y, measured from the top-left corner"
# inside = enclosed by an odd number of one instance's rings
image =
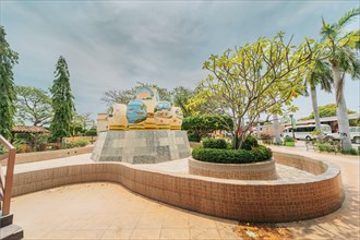
[[[308,140],[308,141],[316,139],[316,136],[310,134],[312,131],[315,130],[315,128],[316,127],[314,124],[298,125],[293,131],[295,139]],[[332,128],[329,125],[321,124],[321,131],[323,131],[324,135],[332,135]],[[284,134],[284,137],[286,137],[286,136],[292,137],[292,127],[285,128],[283,134]]]

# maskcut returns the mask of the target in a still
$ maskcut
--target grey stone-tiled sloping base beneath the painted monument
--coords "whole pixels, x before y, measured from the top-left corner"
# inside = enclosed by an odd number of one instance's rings
[[[92,159],[156,164],[189,156],[190,145],[185,131],[137,130],[100,132]]]

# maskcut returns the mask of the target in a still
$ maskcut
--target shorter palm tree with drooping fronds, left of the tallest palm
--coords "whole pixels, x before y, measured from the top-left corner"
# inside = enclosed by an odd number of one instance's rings
[[[312,109],[314,112],[315,125],[316,129],[321,130],[320,115],[317,108],[317,93],[316,86],[320,85],[321,89],[332,93],[333,74],[331,65],[326,61],[316,60],[313,69],[308,72],[305,75],[304,85],[310,86],[310,96],[312,103]],[[305,88],[305,95],[309,96],[309,92]]]

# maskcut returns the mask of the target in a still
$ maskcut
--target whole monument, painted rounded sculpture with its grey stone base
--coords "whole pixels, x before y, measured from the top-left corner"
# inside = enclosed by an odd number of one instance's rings
[[[113,104],[106,118],[98,116],[95,161],[156,164],[190,156],[181,108],[161,101],[156,88],[141,87],[136,99]]]

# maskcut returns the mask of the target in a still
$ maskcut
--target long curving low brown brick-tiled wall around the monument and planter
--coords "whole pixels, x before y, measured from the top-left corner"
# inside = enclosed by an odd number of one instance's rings
[[[275,154],[278,156],[283,161],[291,161],[293,157]],[[319,163],[305,157],[302,160],[302,166]],[[71,183],[110,181],[144,196],[217,217],[259,223],[293,221],[329,214],[343,204],[339,168],[327,164],[316,166],[322,169],[321,175],[285,182],[183,176],[144,170],[124,163],[96,163],[16,173],[13,195]]]

